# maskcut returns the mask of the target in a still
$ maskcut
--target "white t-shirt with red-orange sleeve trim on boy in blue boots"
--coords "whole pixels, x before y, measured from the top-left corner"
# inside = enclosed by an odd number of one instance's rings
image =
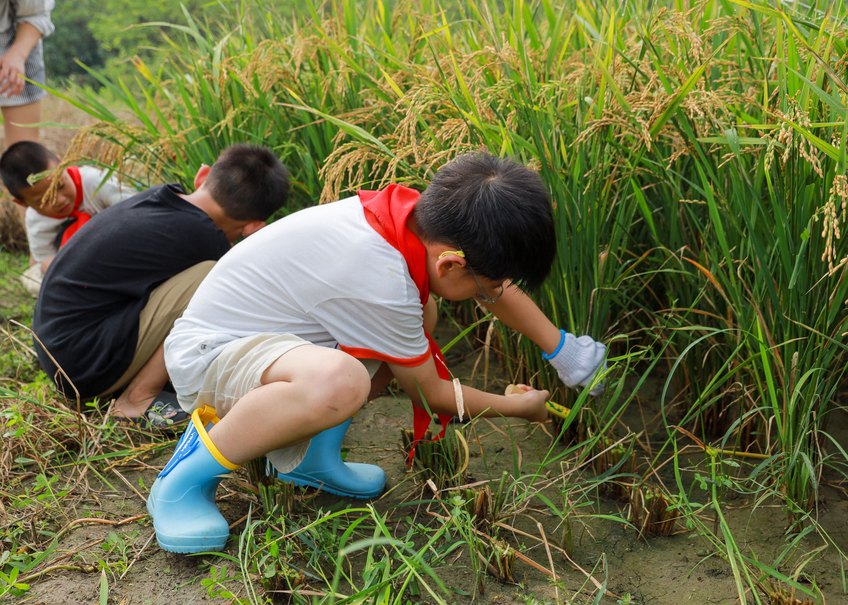
[[[406,261],[365,220],[359,197],[290,214],[215,264],[165,340],[176,392],[198,391],[230,342],[262,333],[408,366],[430,350]]]

